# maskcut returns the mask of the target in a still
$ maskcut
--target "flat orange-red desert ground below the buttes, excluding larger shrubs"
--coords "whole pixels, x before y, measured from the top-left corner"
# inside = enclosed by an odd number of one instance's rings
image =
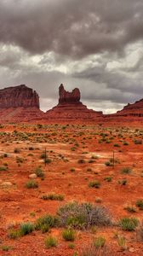
[[[97,237],[106,239],[106,255],[143,255],[142,241],[136,230],[123,231],[117,225],[123,217],[143,219],[136,201],[143,200],[143,130],[134,128],[105,128],[100,125],[1,125],[0,128],[0,255],[30,256],[83,255],[82,249]],[[17,148],[18,150],[15,150]],[[41,154],[47,148],[51,160],[44,165]],[[106,162],[115,154],[115,166]],[[84,160],[78,163],[78,160]],[[112,160],[111,160],[112,163]],[[4,169],[3,166],[6,168]],[[26,183],[35,169],[41,166],[45,177],[36,177],[38,188],[27,189]],[[123,173],[129,167],[131,172]],[[107,182],[105,177],[111,177]],[[126,180],[125,185],[122,184]],[[98,180],[100,188],[90,188]],[[8,182],[8,183],[7,183]],[[63,201],[43,201],[50,193],[64,195]],[[100,202],[98,202],[100,198]],[[104,206],[114,225],[95,227],[95,231],[76,230],[74,248],[62,238],[63,228],[48,233],[34,230],[31,234],[12,239],[9,230],[21,223],[35,223],[45,214],[55,215],[60,206],[71,201],[90,202]],[[136,212],[124,209],[135,207]],[[48,236],[58,240],[57,247],[46,248]],[[116,236],[124,236],[127,249],[122,250]],[[8,252],[4,250],[7,246]],[[112,252],[112,253],[111,253]],[[87,254],[88,255],[88,254]],[[101,254],[105,255],[105,254]]]

